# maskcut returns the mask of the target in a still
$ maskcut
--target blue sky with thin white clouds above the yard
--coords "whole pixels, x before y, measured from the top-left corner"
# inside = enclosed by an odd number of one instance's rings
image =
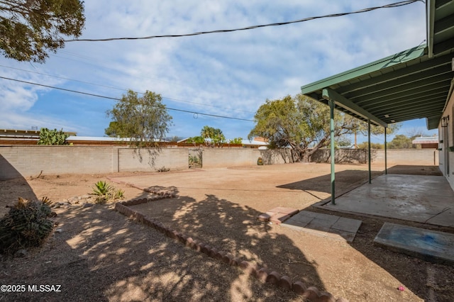
[[[80,38],[184,34],[293,21],[382,6],[391,1],[85,1]],[[120,98],[155,91],[169,108],[253,119],[266,99],[423,43],[425,4],[416,2],[338,18],[183,38],[71,42],[45,64],[0,57],[0,74]],[[0,79],[0,128],[63,128],[104,136],[115,101]],[[169,136],[199,135],[204,125],[247,138],[254,123],[169,111]],[[409,121],[399,133],[426,129]],[[391,137],[392,138],[392,137]],[[391,139],[389,138],[389,140]],[[365,138],[359,138],[359,142]],[[372,141],[381,141],[373,138]]]

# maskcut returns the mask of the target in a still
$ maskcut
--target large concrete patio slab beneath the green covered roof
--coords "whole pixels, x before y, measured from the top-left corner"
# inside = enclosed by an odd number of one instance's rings
[[[441,176],[380,175],[321,208],[454,226],[454,191]]]

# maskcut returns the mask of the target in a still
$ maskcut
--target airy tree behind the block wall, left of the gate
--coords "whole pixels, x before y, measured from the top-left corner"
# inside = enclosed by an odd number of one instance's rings
[[[113,123],[106,129],[106,134],[115,134],[121,138],[131,138],[131,143],[138,147],[156,147],[157,141],[163,140],[172,125],[172,116],[162,104],[160,94],[145,91],[143,96],[132,90],[107,111]]]

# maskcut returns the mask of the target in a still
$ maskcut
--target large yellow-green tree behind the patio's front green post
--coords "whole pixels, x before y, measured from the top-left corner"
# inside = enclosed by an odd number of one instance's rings
[[[267,100],[254,116],[255,127],[248,138],[262,136],[270,142],[270,148],[290,147],[297,161],[309,161],[309,157],[331,142],[329,107],[308,97],[285,96]],[[358,130],[355,118],[336,111],[334,117],[336,145],[343,145],[343,135]]]

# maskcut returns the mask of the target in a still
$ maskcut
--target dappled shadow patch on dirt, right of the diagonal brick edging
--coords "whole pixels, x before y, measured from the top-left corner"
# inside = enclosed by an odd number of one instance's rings
[[[271,231],[271,225],[257,220],[261,213],[254,208],[213,194],[206,194],[201,201],[177,196],[131,208],[234,257],[324,290],[317,264],[309,262],[289,237]]]

